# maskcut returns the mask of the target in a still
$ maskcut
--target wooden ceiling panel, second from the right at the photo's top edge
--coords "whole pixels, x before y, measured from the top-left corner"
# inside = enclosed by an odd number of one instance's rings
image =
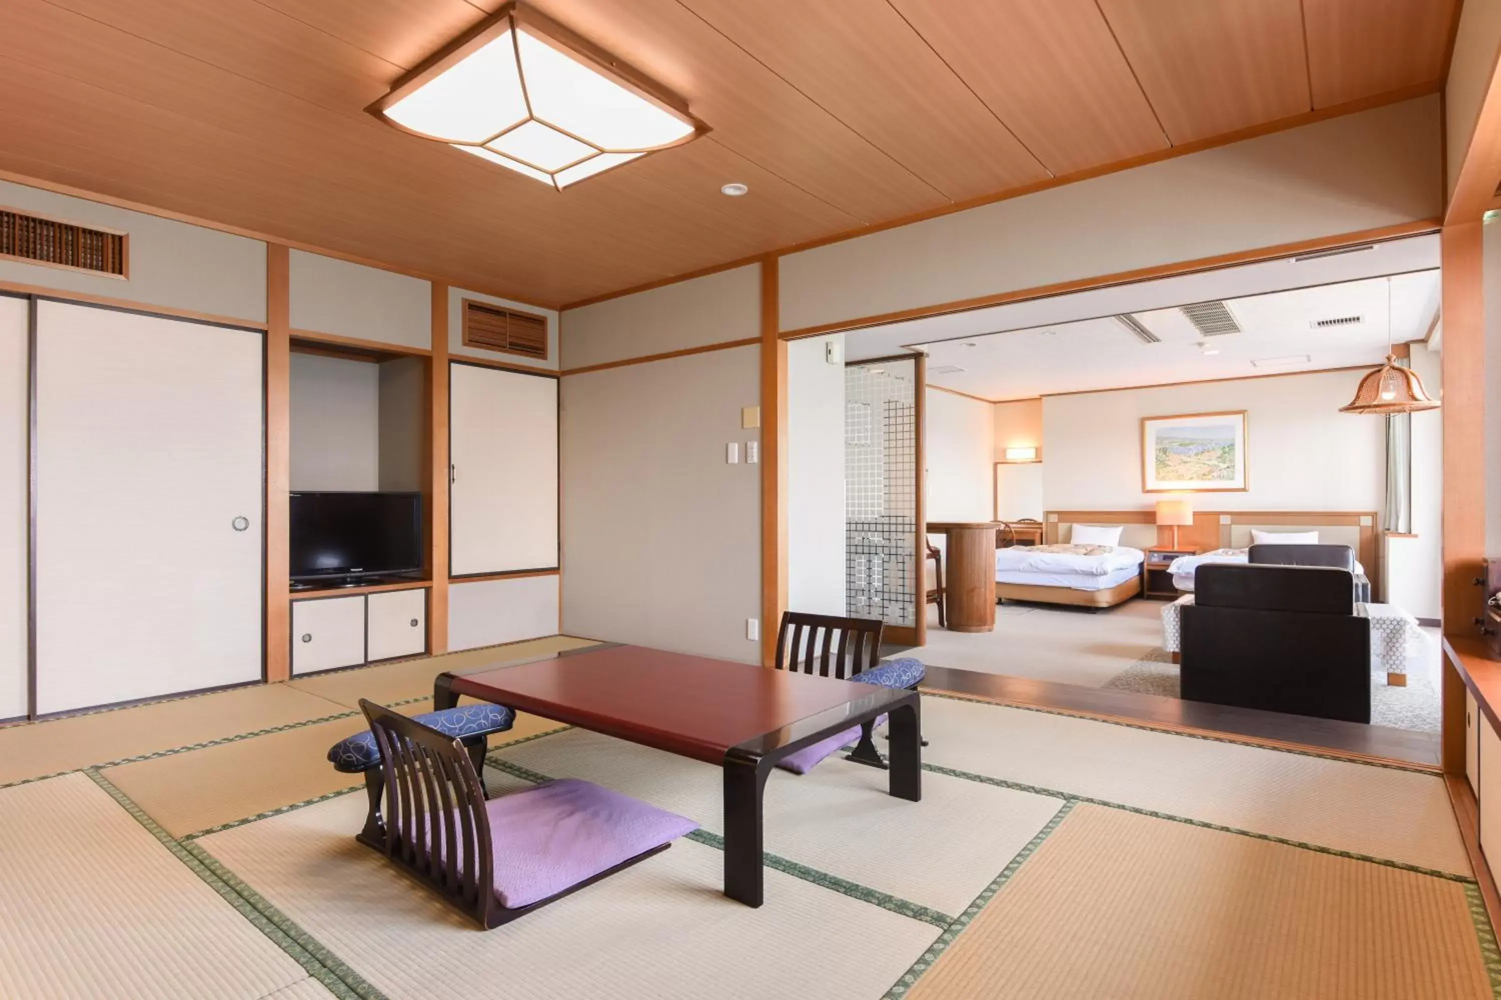
[[[1298,0],[1099,0],[1174,145],[1312,108]]]

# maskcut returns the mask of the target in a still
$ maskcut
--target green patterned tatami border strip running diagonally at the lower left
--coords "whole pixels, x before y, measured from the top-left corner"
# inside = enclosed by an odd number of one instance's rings
[[[96,786],[116,801],[131,817],[155,837],[177,861],[198,876],[210,889],[218,892],[225,903],[249,921],[261,934],[270,939],[278,948],[308,970],[314,979],[323,984],[341,1000],[384,1000],[384,996],[365,982],[359,973],[335,958],[311,934],[303,931],[290,918],[281,913],[269,900],[246,886],[233,874],[227,873],[213,858],[201,849],[185,846],[173,838],[161,825],[135,804],[131,796],[114,786],[93,768],[83,772]]]

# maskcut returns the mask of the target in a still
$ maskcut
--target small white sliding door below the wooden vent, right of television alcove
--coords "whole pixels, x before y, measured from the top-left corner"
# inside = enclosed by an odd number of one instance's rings
[[[450,364],[453,576],[558,564],[558,382]]]

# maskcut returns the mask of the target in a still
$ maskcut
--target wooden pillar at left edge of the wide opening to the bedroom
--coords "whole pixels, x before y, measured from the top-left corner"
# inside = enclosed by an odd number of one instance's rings
[[[776,657],[787,610],[787,340],[778,258],[761,261],[761,664]]]

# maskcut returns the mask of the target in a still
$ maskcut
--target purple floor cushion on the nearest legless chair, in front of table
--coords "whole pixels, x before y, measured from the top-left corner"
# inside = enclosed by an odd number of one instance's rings
[[[491,799],[485,810],[495,898],[510,910],[698,829],[693,820],[576,778]]]

